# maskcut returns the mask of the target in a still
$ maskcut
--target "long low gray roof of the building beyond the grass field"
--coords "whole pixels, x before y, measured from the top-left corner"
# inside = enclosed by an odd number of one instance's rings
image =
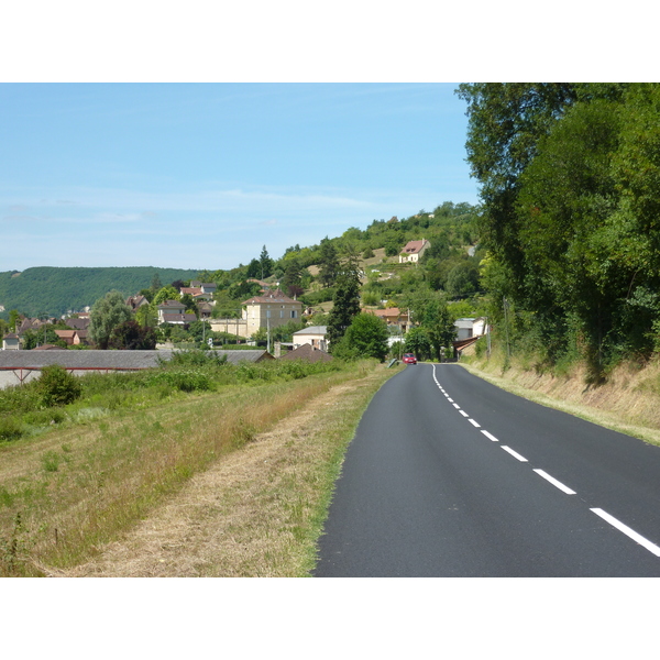
[[[158,366],[158,360],[170,360],[175,350],[158,351],[0,351],[0,370],[41,369],[59,364],[72,370],[135,370]],[[272,359],[264,350],[218,351],[227,355],[227,361],[238,364],[241,361],[260,362]]]

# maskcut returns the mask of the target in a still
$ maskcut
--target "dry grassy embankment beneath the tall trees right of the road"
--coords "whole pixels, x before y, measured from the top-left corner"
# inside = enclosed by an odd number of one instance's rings
[[[543,406],[575,415],[660,446],[660,362],[622,364],[602,385],[586,384],[586,369],[574,365],[562,375],[501,355],[461,363],[471,373]]]

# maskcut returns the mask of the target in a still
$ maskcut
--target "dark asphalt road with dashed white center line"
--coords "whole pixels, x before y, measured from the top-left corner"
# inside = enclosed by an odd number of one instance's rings
[[[316,576],[658,576],[660,448],[457,364],[407,366],[345,455]]]

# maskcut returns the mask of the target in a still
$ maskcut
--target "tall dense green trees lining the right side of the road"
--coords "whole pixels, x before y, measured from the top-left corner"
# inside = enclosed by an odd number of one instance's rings
[[[601,383],[660,337],[660,85],[462,85],[482,283],[509,348]]]

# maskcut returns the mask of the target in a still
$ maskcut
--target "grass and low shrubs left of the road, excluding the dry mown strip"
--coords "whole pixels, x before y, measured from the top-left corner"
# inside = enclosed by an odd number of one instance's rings
[[[371,373],[373,365],[231,365],[221,355],[191,352],[156,370],[85,376],[77,381],[81,392],[74,400],[62,371],[53,370],[55,386],[48,387],[66,394],[56,397],[56,408],[46,407],[38,381],[0,393],[3,575],[40,575],[89,559],[219,457],[310,397]],[[337,439],[344,444],[365,405],[361,400]],[[10,422],[19,427],[15,437]],[[324,465],[330,458],[337,460],[336,449],[322,459]],[[314,534],[320,534],[319,507],[329,502],[337,476],[337,463],[329,468],[322,480],[314,480],[315,491],[320,488],[314,495],[316,514],[294,518],[306,530],[299,540],[308,543],[307,569]]]

